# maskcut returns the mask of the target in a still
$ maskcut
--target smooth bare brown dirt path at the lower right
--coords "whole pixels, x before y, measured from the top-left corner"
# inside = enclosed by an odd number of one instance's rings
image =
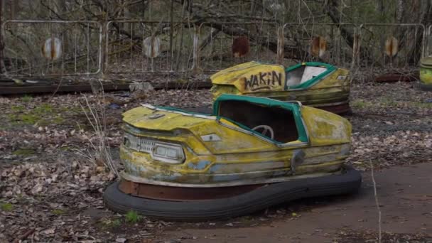
[[[407,242],[402,241],[404,237],[408,242],[432,242],[431,171],[431,163],[422,163],[375,174],[384,242]],[[247,227],[242,226],[242,219],[217,229],[206,224],[180,227],[161,237],[182,242],[365,242],[377,237],[378,211],[371,175],[363,173],[363,179],[357,195],[281,205],[276,214],[284,210],[286,216],[275,220]]]

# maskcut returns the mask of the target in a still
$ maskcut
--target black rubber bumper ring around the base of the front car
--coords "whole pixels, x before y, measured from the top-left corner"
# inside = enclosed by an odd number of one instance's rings
[[[120,213],[134,210],[161,220],[204,221],[246,215],[299,198],[354,193],[360,188],[361,181],[360,172],[346,167],[345,171],[338,175],[263,184],[254,190],[234,193],[227,198],[184,201],[129,195],[123,193],[119,189],[119,182],[116,182],[105,190],[104,202],[109,209]],[[197,195],[200,194],[200,188],[195,190]]]

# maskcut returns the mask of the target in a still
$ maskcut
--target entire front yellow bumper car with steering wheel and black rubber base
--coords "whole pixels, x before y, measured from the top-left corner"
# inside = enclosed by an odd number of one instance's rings
[[[220,95],[213,114],[144,104],[123,120],[125,170],[104,193],[117,212],[210,220],[360,187],[350,122],[300,102]]]

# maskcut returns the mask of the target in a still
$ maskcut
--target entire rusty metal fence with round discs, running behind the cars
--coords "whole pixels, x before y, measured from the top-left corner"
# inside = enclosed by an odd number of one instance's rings
[[[11,77],[215,72],[249,60],[403,69],[431,55],[432,26],[408,23],[6,21]]]

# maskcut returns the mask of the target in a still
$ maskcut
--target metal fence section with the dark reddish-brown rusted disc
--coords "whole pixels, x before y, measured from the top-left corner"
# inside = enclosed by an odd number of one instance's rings
[[[216,71],[250,60],[276,63],[274,23],[202,23],[198,29],[200,70]]]

